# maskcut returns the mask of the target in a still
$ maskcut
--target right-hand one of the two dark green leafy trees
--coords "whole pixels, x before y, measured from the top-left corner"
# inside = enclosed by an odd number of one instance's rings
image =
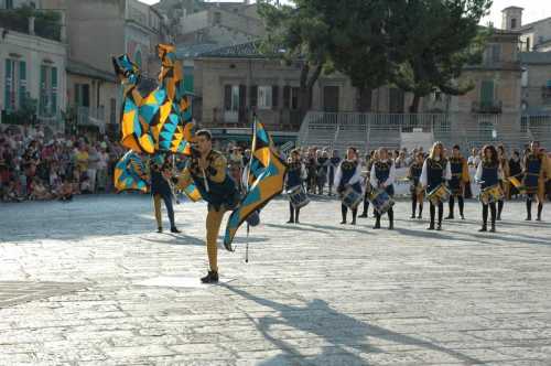
[[[479,61],[487,31],[478,23],[491,0],[397,0],[388,28],[399,62],[393,83],[413,93],[410,112],[435,88],[462,95],[474,86],[458,84],[463,68]]]

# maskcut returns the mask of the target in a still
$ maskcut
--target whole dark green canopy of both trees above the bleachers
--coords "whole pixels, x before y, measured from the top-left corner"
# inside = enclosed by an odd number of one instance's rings
[[[339,71],[359,89],[393,84],[414,95],[410,111],[434,89],[460,95],[457,78],[484,49],[478,25],[491,0],[259,1],[263,50],[300,61],[301,88],[323,69]]]

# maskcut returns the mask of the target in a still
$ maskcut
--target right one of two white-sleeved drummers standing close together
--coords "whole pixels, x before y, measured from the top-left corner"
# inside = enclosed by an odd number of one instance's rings
[[[379,159],[372,164],[369,176],[372,187],[385,190],[390,197],[395,195],[396,168],[392,159],[388,157],[387,149],[379,149]],[[389,222],[388,229],[392,230],[395,228],[395,211],[392,207],[387,211],[387,214]],[[374,229],[380,228],[380,217],[381,214],[376,212]]]

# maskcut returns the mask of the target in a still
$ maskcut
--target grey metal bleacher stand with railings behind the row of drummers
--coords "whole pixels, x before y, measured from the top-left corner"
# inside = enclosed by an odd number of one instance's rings
[[[343,149],[355,146],[370,150],[399,148],[408,132],[432,133],[445,146],[458,143],[463,150],[483,144],[504,144],[521,149],[530,140],[540,140],[551,149],[551,115],[520,114],[329,114],[310,111],[301,126],[300,146]]]

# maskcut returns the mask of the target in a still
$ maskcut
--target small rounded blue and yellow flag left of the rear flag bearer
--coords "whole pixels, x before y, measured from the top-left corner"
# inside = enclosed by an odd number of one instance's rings
[[[115,187],[117,191],[149,192],[149,174],[145,162],[134,151],[128,151],[115,165]]]

